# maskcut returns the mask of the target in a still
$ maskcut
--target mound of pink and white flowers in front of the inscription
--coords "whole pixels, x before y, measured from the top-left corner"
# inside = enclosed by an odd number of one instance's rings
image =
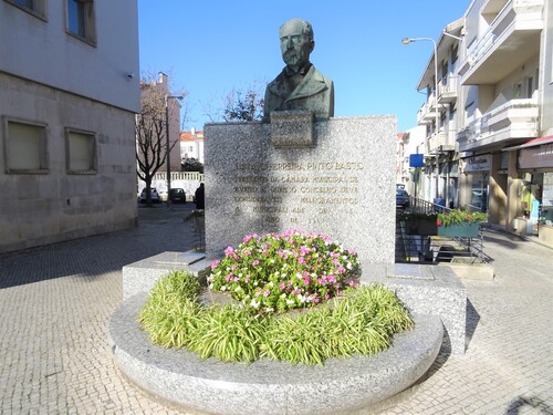
[[[213,261],[209,288],[260,313],[317,304],[356,286],[357,255],[320,234],[247,235]]]

